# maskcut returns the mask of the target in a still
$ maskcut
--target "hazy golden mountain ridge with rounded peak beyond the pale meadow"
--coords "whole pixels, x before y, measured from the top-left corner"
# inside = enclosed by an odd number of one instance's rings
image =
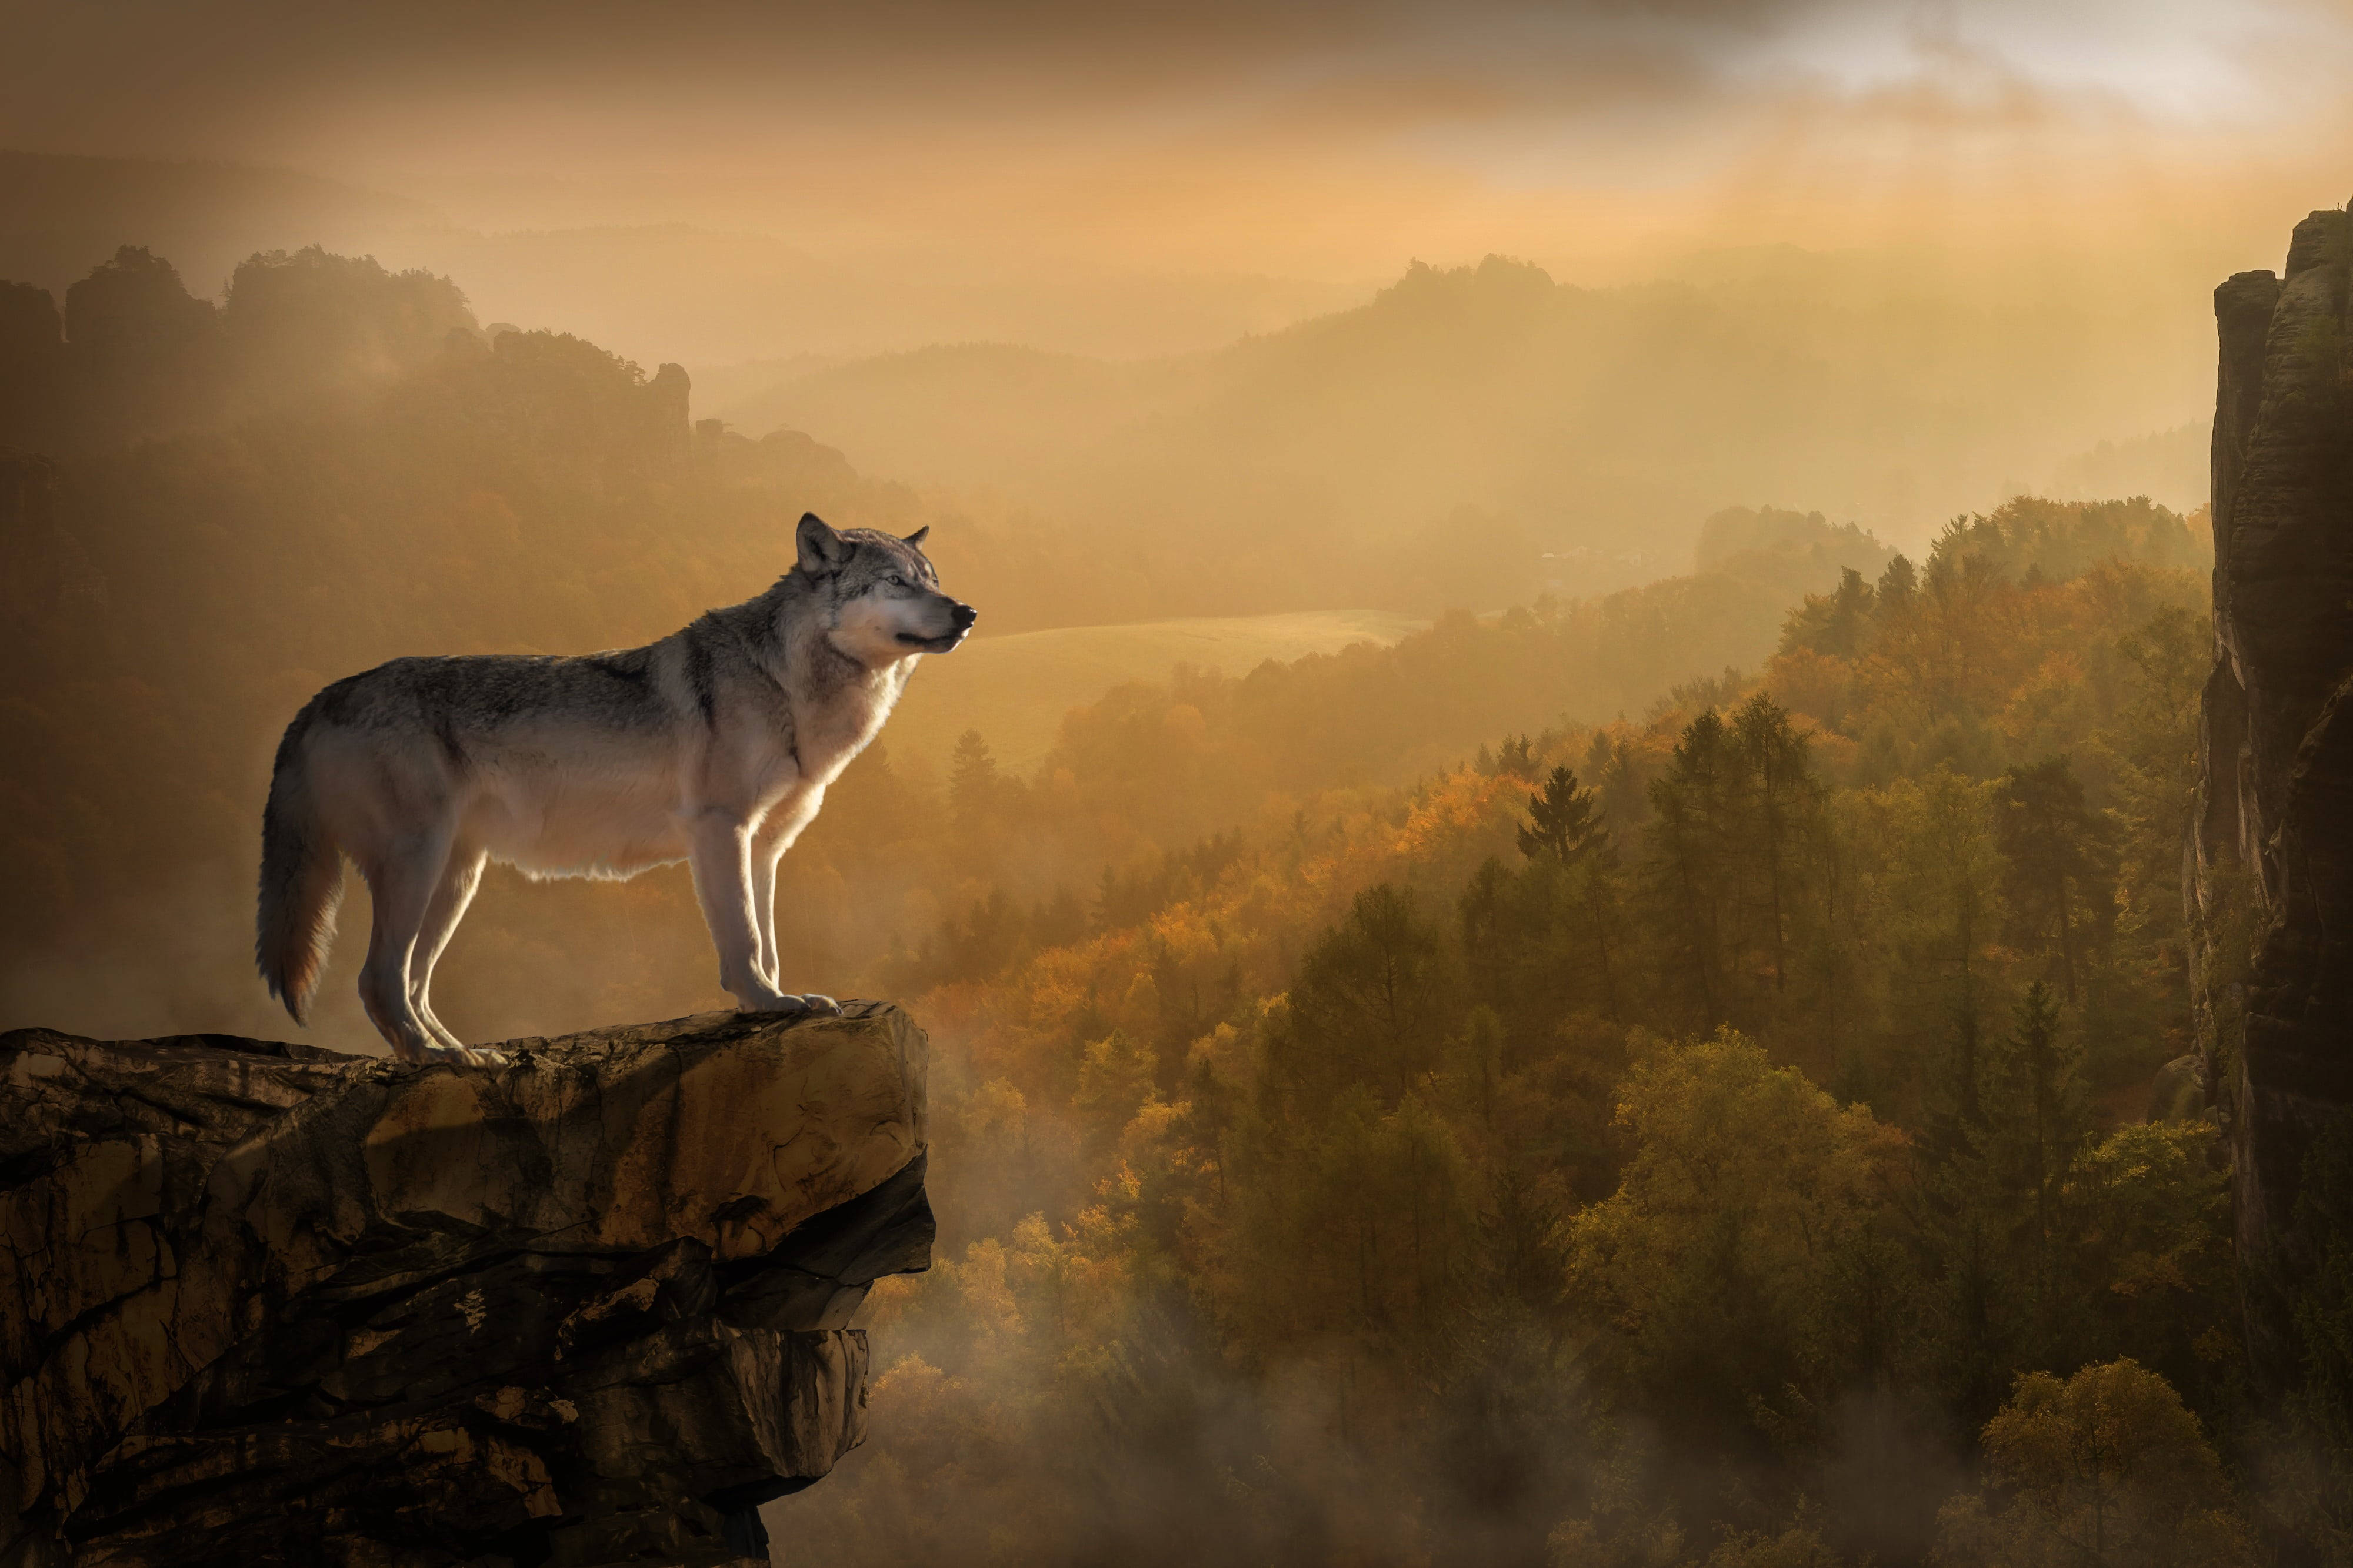
[[[2099,336],[2111,322],[2082,343],[2031,324],[2028,306],[1991,320],[1831,282],[1581,289],[1487,256],[1414,263],[1353,310],[1219,350],[939,346],[715,411],[1073,522],[1381,538],[1475,508],[1539,548],[1624,550],[1769,498],[1920,538],[2169,407],[2120,381],[2132,348]],[[2120,451],[2106,477],[2127,494]]]

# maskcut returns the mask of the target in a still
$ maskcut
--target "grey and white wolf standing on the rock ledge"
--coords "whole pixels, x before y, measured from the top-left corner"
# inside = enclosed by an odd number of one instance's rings
[[[915,663],[979,618],[941,590],[927,534],[807,512],[767,592],[642,649],[395,658],[313,696],[261,811],[254,961],[271,997],[306,1020],[348,858],[374,900],[367,1018],[402,1060],[485,1060],[428,997],[482,865],[626,879],[685,860],[741,1009],[838,1011],[781,987],[776,860]]]

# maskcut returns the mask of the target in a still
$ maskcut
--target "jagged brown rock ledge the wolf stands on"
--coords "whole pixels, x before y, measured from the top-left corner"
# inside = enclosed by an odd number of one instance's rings
[[[0,1037],[0,1566],[767,1561],[929,1265],[904,1013]]]

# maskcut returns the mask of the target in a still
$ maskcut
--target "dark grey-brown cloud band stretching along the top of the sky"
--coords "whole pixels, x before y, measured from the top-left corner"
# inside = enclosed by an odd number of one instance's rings
[[[1711,118],[1788,89],[2002,75],[2148,99],[2249,96],[2233,42],[2322,9],[2184,0],[1473,0],[1468,5],[292,5],[49,7],[0,66],[0,136],[47,150],[398,155],[529,110],[668,148],[762,132],[1073,118],[1391,134],[1642,108]],[[2341,19],[2339,19],[2341,21]],[[2273,61],[2278,71],[2278,61]],[[2273,71],[2273,73],[2275,73]],[[68,141],[68,146],[54,146]],[[525,139],[525,150],[529,139]]]

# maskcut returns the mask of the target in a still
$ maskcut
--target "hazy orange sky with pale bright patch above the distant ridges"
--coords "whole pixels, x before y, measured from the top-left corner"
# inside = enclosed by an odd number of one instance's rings
[[[2209,277],[2353,193],[2346,0],[0,9],[0,146],[972,268],[1791,240]]]

